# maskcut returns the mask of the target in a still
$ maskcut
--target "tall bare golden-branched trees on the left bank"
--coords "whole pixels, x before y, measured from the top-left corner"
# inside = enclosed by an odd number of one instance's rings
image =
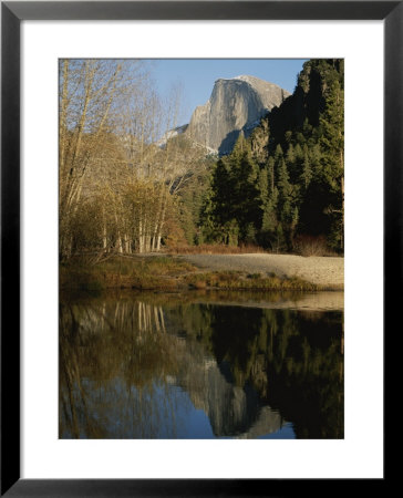
[[[174,197],[205,152],[177,126],[134,61],[60,62],[60,255],[159,250]],[[166,139],[162,139],[162,137]]]

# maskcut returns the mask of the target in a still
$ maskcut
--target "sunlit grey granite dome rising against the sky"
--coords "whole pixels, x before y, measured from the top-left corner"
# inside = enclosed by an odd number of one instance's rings
[[[208,102],[193,113],[186,134],[208,149],[228,154],[240,132],[248,136],[259,120],[289,95],[255,76],[217,80]]]

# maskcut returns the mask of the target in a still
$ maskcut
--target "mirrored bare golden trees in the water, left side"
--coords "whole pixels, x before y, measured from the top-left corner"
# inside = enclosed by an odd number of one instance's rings
[[[180,341],[161,308],[143,302],[61,303],[60,436],[175,437]]]

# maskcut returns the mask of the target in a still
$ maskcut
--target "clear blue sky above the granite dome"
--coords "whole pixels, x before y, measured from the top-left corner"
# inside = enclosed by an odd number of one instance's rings
[[[156,59],[149,61],[149,69],[163,97],[174,86],[180,89],[183,108],[178,125],[182,125],[190,121],[197,105],[208,101],[216,80],[247,74],[292,93],[304,62],[306,59]]]

